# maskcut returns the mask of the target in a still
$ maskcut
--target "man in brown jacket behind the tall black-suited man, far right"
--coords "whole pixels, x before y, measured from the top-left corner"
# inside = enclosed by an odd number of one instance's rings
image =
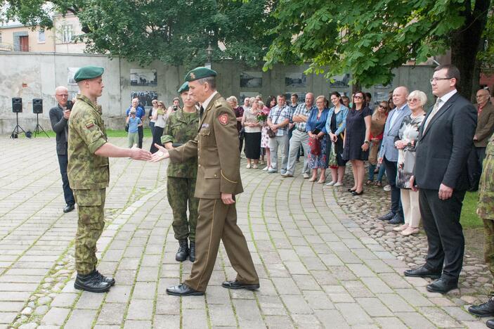
[[[479,179],[482,174],[482,162],[486,157],[486,147],[490,136],[494,133],[494,105],[489,102],[489,91],[480,89],[476,94],[477,103],[474,106],[477,109],[477,128],[474,136],[474,155],[476,158],[475,182],[472,190],[479,189]]]

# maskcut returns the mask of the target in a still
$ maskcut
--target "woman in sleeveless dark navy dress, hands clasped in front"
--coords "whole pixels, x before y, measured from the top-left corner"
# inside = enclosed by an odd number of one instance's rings
[[[350,160],[353,172],[353,187],[348,191],[353,195],[363,193],[365,178],[364,161],[369,157],[370,109],[365,106],[365,96],[357,91],[353,96],[353,106],[346,115],[346,129],[343,140],[343,159]]]

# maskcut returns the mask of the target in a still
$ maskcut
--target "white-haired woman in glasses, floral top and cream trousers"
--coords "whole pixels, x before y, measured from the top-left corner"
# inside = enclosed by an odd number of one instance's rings
[[[394,146],[398,148],[398,172],[396,187],[401,189],[401,204],[405,224],[394,228],[403,236],[418,233],[420,223],[419,192],[412,191],[410,177],[415,167],[415,145],[419,136],[419,128],[425,117],[424,105],[427,95],[423,91],[412,91],[407,99],[410,115],[403,117],[398,136],[394,138]]]

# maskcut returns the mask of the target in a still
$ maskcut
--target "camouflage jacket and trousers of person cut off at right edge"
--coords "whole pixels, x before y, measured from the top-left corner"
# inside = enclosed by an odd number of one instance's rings
[[[486,264],[494,277],[494,135],[490,137],[483,160],[477,214],[483,220]],[[494,290],[490,291],[490,296],[494,297]]]

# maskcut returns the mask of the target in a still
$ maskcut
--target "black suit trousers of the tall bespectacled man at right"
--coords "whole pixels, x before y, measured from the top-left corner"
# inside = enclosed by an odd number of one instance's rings
[[[419,190],[420,214],[427,235],[426,267],[443,272],[442,277],[457,280],[463,266],[464,237],[460,224],[465,191],[453,191],[441,200],[438,190]]]

